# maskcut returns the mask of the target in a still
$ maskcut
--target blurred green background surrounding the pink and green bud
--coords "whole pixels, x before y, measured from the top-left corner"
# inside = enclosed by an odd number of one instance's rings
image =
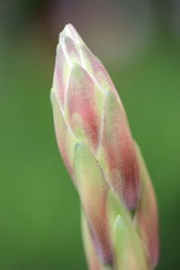
[[[109,70],[157,193],[158,270],[180,269],[180,2],[1,0],[0,269],[86,269],[49,89],[73,23]]]

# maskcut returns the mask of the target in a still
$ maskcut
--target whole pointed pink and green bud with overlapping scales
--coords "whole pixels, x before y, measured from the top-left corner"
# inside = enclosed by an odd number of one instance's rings
[[[71,24],[59,34],[50,96],[58,149],[82,204],[89,269],[154,269],[150,178],[110,76]]]

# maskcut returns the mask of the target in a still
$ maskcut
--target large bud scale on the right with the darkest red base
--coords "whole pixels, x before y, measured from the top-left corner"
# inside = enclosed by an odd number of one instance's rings
[[[114,192],[134,209],[139,200],[139,165],[121,104],[108,91],[103,106],[103,132],[97,158]]]

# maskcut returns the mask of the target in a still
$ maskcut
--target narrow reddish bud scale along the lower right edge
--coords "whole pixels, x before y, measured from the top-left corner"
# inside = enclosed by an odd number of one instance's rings
[[[158,216],[157,201],[143,157],[137,146],[142,181],[139,204],[135,214],[135,224],[144,243],[152,268],[158,261]]]

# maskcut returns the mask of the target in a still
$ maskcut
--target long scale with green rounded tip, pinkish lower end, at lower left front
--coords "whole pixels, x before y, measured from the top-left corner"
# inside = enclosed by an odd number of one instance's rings
[[[94,248],[103,263],[110,265],[112,247],[106,208],[108,187],[93,153],[82,143],[76,144],[74,169],[78,193],[91,229]]]

